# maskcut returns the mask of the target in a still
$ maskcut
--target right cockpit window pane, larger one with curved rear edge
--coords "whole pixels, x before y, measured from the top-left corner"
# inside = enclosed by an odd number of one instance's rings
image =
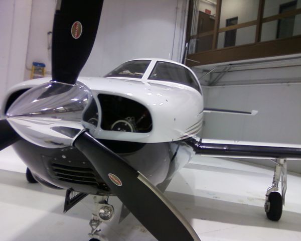
[[[201,94],[200,86],[193,74],[185,67],[174,63],[158,61],[148,79],[166,80],[195,88]]]

